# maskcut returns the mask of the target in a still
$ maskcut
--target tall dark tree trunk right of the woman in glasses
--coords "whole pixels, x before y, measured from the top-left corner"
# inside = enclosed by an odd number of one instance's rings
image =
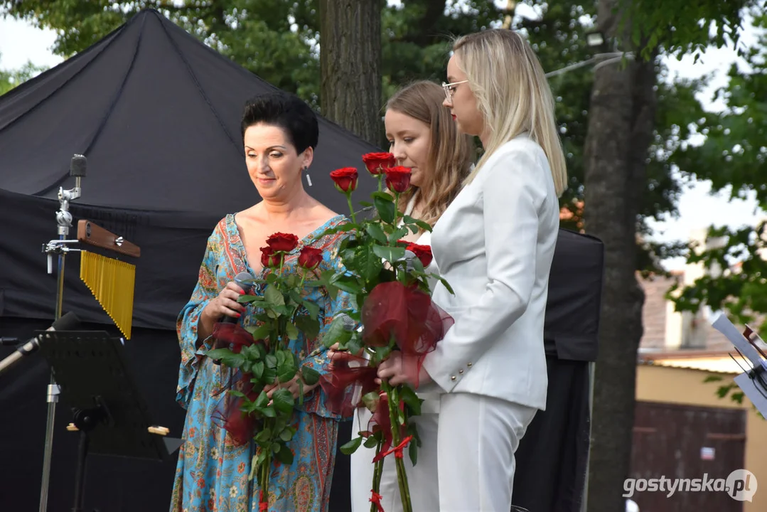
[[[600,0],[598,21],[616,34],[615,0]],[[627,23],[630,26],[630,23]],[[627,45],[621,45],[627,48]],[[625,510],[634,429],[637,348],[644,292],[637,281],[637,219],[646,188],[647,156],[656,100],[651,61],[615,62],[594,71],[584,147],[584,225],[604,243],[599,357],[589,458],[588,511]]]

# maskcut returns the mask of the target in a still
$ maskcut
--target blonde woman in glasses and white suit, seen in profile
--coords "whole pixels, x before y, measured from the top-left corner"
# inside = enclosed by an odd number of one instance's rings
[[[458,129],[485,152],[431,236],[434,301],[455,324],[426,355],[420,391],[441,393],[439,507],[509,512],[514,452],[545,409],[543,324],[567,171],[541,64],[514,31],[459,38],[443,84]],[[395,352],[378,375],[407,382]],[[414,494],[422,492],[410,487]]]

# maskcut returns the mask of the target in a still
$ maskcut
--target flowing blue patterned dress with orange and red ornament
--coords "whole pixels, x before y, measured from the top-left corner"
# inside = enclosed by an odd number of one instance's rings
[[[324,261],[321,267],[330,268],[334,251],[344,235],[318,237],[328,227],[343,222],[344,216],[335,216],[301,239],[298,247],[285,257],[288,271],[295,271],[298,251],[304,245],[322,249]],[[211,420],[216,405],[224,396],[232,370],[224,365],[214,365],[206,357],[206,352],[212,348],[211,340],[196,348],[199,313],[218,296],[227,282],[243,271],[258,277],[268,269],[255,273],[249,265],[235,217],[229,214],[218,223],[208,239],[199,280],[176,325],[181,346],[176,399],[187,413],[184,443],[179,448],[173,484],[170,506],[173,512],[258,510],[260,487],[255,477],[248,480],[255,444],[251,441],[236,445],[229,434]],[[255,292],[259,290],[255,289]],[[291,342],[291,349],[304,365],[322,373],[326,371],[326,351],[323,349],[318,355],[310,355],[321,348],[324,332],[327,332],[334,313],[348,306],[348,296],[339,292],[336,299],[331,300],[324,289],[310,289],[306,298],[320,306],[320,334],[318,339],[305,339],[301,334]],[[249,325],[254,313],[255,309],[248,306],[242,315],[242,324]],[[303,405],[295,410],[294,426],[298,431],[291,441],[295,457],[289,467],[277,461],[272,463],[275,471],[269,483],[269,512],[324,512],[327,508],[341,418],[328,411],[324,401],[324,392],[315,388],[304,396]]]

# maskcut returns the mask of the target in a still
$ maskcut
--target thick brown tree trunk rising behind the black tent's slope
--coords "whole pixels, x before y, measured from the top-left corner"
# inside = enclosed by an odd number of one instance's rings
[[[380,145],[381,0],[320,0],[324,117]]]

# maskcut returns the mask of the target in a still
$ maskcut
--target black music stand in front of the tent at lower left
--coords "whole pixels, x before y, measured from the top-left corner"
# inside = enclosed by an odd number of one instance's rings
[[[72,408],[80,432],[73,512],[84,504],[87,454],[165,461],[181,440],[165,438],[128,372],[119,338],[106,331],[39,331],[40,350],[51,366],[61,399]],[[164,442],[163,442],[164,441]]]

